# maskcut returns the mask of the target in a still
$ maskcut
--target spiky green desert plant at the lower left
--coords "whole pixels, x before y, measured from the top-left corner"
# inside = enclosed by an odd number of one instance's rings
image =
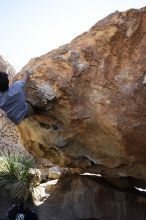
[[[19,201],[30,197],[29,169],[36,166],[34,158],[5,153],[0,157],[0,186]]]

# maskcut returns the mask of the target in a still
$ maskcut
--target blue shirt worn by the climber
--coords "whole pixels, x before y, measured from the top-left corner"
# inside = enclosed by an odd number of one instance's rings
[[[0,92],[0,108],[4,110],[13,122],[20,123],[28,112],[25,101],[25,82],[14,82],[7,91]]]

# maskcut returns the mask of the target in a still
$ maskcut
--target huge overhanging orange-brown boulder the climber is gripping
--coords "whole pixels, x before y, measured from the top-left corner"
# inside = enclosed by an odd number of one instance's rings
[[[26,148],[64,167],[145,179],[145,33],[146,8],[115,12],[30,60]]]

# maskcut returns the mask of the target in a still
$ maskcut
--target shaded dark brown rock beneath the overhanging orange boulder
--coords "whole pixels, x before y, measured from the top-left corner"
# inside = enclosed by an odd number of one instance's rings
[[[60,179],[38,206],[40,220],[145,220],[146,198],[115,190],[100,178]]]

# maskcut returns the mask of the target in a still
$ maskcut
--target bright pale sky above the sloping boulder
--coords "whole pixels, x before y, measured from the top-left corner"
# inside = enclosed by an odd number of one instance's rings
[[[118,10],[146,0],[0,0],[0,55],[18,72]]]

